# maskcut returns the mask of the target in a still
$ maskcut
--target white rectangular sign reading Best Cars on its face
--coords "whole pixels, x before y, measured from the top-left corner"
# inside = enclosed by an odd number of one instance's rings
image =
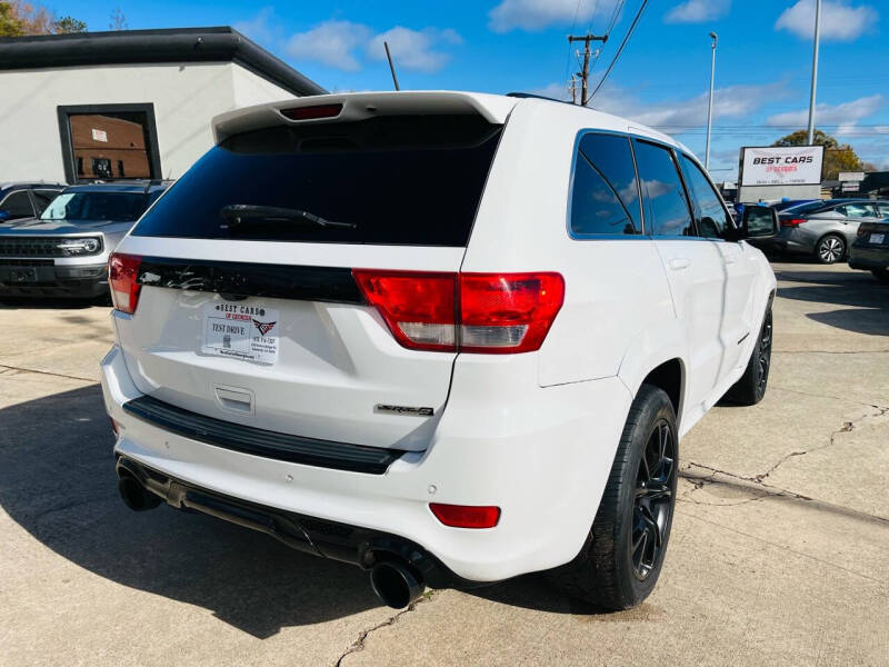
[[[742,186],[815,186],[821,182],[823,146],[741,149]]]

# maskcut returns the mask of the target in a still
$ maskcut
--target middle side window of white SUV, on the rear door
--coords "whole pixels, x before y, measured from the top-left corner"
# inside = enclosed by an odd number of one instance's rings
[[[686,191],[667,148],[636,141],[646,231],[652,236],[695,236]]]

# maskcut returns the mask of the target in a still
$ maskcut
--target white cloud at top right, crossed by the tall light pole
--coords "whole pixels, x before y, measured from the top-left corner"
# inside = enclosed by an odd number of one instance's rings
[[[846,0],[825,0],[821,3],[821,39],[850,41],[871,28],[879,19],[877,10],[867,4],[853,7]],[[815,36],[815,0],[798,0],[775,22],[776,30],[788,30],[803,39]]]

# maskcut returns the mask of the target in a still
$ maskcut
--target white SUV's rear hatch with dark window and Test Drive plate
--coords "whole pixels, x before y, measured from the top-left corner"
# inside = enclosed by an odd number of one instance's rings
[[[506,111],[447,94],[324,100],[217,122],[218,145],[118,248],[141,286],[119,341],[158,400],[422,450],[456,352],[400,345],[353,270],[459,271]]]

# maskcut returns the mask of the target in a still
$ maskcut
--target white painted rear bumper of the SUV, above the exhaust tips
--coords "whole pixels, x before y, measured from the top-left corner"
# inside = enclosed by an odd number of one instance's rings
[[[563,565],[589,532],[630,392],[618,378],[529,388],[512,374],[536,378],[533,355],[471,357],[456,364],[430,447],[403,454],[381,475],[254,456],[143,421],[123,409],[142,395],[118,347],[102,361],[102,388],[120,426],[116,454],[177,484],[382,534],[416,546],[459,580]],[[450,528],[434,518],[431,501],[497,505],[502,514],[495,528]],[[349,548],[339,558],[360,564]]]

